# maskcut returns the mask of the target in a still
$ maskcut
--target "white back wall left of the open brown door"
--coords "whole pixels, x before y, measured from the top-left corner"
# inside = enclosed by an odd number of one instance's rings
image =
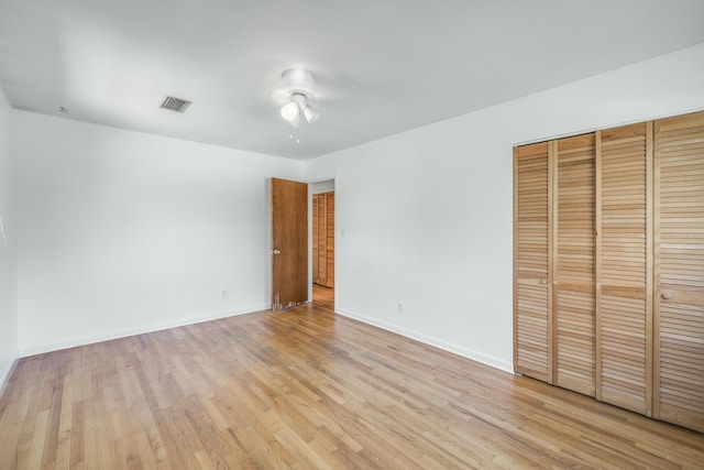
[[[302,163],[15,114],[22,356],[268,307],[267,178]]]

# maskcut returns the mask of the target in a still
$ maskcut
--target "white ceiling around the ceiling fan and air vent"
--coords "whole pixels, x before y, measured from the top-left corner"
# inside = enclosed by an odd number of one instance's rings
[[[0,87],[19,109],[306,160],[702,42],[702,0],[0,0]],[[300,143],[270,100],[290,67],[322,112]]]

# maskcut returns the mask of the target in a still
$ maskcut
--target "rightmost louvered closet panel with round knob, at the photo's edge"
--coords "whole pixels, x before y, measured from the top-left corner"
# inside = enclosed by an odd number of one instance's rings
[[[654,133],[654,416],[704,431],[704,113]]]

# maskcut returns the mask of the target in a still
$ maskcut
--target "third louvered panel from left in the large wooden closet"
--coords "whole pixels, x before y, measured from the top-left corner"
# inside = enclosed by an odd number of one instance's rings
[[[596,395],[648,415],[652,414],[651,129],[642,122],[596,134],[601,285]]]

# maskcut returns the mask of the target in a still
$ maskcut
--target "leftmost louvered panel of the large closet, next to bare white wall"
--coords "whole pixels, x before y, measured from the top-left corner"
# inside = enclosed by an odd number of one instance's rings
[[[514,150],[514,369],[552,382],[548,143]]]

